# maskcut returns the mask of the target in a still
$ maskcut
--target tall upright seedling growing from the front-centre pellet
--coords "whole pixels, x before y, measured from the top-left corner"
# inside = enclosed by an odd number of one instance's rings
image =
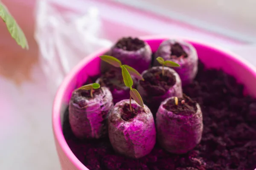
[[[124,79],[125,86],[130,88],[130,111],[132,111],[131,98],[133,98],[135,102],[137,102],[141,107],[144,108],[144,103],[139,92],[136,89],[132,88],[133,81],[128,69],[126,68],[125,65],[122,65],[121,67],[122,67],[122,77]]]

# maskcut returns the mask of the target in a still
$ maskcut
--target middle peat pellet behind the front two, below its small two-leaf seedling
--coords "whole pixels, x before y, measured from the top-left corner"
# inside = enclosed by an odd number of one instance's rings
[[[137,90],[143,101],[155,116],[161,102],[166,98],[183,94],[182,84],[177,72],[169,67],[155,66],[143,71],[145,81],[139,81]]]

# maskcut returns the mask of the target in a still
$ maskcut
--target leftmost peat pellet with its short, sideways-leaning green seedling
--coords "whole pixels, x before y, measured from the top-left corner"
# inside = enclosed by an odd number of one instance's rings
[[[113,108],[111,91],[98,83],[84,85],[73,91],[69,102],[69,122],[79,139],[107,136],[107,117]]]

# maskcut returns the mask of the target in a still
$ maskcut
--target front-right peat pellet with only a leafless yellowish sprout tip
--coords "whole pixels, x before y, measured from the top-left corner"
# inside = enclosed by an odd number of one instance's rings
[[[183,94],[164,100],[156,116],[157,139],[170,153],[183,154],[200,143],[203,116],[200,105]]]

